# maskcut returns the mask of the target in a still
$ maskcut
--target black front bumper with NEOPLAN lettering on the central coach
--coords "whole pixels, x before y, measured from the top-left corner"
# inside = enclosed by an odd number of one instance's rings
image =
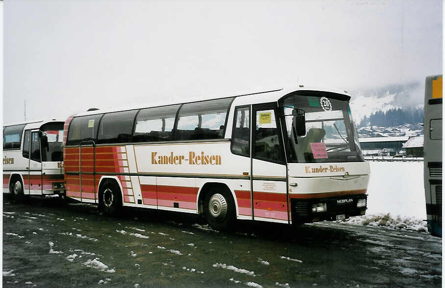
[[[357,207],[357,201],[367,198],[367,194],[316,199],[293,198],[291,199],[292,223],[335,221],[365,215],[367,205]],[[312,205],[317,203],[326,203],[326,211],[312,212]]]

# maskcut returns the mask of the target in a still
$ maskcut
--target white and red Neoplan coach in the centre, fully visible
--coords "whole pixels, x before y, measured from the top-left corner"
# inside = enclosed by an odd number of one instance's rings
[[[370,168],[346,92],[305,88],[95,110],[65,122],[67,196],[304,223],[364,215]]]

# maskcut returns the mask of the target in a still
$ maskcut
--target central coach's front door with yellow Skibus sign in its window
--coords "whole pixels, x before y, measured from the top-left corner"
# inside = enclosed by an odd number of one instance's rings
[[[289,223],[286,161],[277,104],[257,104],[252,110],[253,219]]]

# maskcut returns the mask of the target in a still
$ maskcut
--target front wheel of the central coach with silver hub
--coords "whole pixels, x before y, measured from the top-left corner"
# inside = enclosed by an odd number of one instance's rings
[[[205,195],[204,215],[213,229],[228,231],[235,221],[235,203],[232,195],[221,187],[213,188]]]

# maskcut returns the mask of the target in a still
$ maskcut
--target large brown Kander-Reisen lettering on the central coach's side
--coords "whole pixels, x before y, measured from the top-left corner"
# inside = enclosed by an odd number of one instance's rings
[[[221,155],[205,155],[201,151],[197,155],[193,151],[189,151],[189,157],[184,155],[175,155],[173,152],[167,155],[158,155],[158,152],[151,152],[151,164],[173,164],[181,165],[188,162],[189,165],[221,165]]]

